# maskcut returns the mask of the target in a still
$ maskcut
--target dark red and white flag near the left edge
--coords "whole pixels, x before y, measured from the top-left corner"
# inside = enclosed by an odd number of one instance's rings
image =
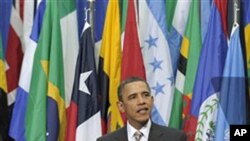
[[[23,5],[24,1],[20,1]],[[10,26],[6,49],[7,71],[6,78],[8,84],[8,104],[15,102],[16,89],[21,71],[24,42],[23,42],[23,11],[18,11],[15,7],[11,8]]]

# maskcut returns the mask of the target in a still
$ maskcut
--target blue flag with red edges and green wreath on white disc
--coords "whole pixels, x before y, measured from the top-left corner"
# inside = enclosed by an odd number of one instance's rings
[[[219,91],[220,80],[214,78],[222,76],[227,52],[227,27],[223,24],[226,19],[226,2],[216,0],[212,6],[209,31],[201,50],[193,88],[191,113],[183,127],[188,140],[210,139],[215,132],[216,93]]]

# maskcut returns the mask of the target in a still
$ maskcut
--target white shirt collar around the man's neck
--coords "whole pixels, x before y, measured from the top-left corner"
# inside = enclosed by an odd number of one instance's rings
[[[148,138],[149,131],[151,127],[151,120],[149,119],[148,122],[139,130],[143,136]],[[137,131],[128,121],[127,121],[127,131],[128,131],[128,138],[131,139],[134,137],[134,133]]]

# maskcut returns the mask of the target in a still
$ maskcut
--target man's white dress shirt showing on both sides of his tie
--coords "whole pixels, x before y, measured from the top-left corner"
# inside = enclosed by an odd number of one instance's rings
[[[148,120],[148,122],[139,130],[142,133],[142,137],[140,141],[148,141],[149,131],[151,127],[151,120]],[[128,141],[135,141],[134,134],[137,131],[129,122],[127,121],[127,132],[128,132]]]

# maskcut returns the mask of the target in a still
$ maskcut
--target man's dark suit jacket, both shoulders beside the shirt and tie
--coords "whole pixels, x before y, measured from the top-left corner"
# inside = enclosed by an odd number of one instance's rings
[[[128,141],[127,126],[104,135],[98,138],[97,141]],[[186,135],[177,129],[152,123],[148,141],[186,141]]]

